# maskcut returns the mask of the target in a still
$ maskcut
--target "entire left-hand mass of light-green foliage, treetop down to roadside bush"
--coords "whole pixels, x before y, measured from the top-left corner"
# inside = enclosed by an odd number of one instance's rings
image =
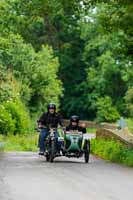
[[[50,101],[58,106],[62,95],[62,84],[57,77],[58,58],[48,45],[42,45],[36,52],[30,43],[25,42],[25,14],[22,7],[18,9],[19,3],[17,0],[0,2],[2,134],[26,133],[29,125],[32,126],[29,114],[36,118]]]

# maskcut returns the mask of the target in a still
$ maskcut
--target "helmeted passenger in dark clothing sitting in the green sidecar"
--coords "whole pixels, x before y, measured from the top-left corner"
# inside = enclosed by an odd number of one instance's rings
[[[79,131],[82,133],[86,133],[85,125],[79,126],[79,116],[73,115],[70,118],[70,124],[66,127],[66,131]]]

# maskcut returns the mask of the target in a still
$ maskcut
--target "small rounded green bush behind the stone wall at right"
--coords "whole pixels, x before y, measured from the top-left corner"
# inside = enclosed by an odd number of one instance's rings
[[[115,122],[120,118],[118,111],[112,105],[111,98],[108,96],[98,100],[96,116],[98,122]]]

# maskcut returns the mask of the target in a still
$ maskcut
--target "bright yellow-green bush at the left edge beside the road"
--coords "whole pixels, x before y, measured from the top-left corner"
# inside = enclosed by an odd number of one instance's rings
[[[0,105],[0,134],[25,134],[30,131],[28,112],[20,101]]]

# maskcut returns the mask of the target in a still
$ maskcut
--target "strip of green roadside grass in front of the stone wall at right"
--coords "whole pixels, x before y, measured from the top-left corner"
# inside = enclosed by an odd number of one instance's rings
[[[133,149],[116,140],[93,139],[91,152],[105,160],[133,167]]]

